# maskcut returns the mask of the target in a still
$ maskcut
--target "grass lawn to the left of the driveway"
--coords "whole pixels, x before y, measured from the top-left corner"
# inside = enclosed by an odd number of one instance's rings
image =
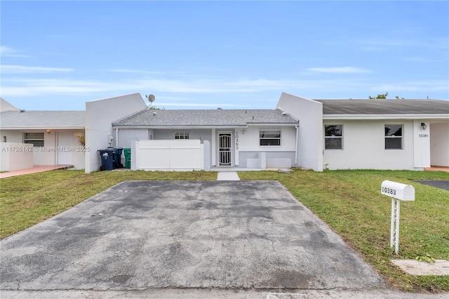
[[[123,180],[216,180],[205,171],[57,170],[0,180],[0,239],[51,218]]]

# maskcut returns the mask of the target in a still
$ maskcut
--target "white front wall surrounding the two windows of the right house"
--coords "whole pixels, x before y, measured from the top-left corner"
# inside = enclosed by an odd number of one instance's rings
[[[413,120],[326,120],[323,123],[341,124],[343,132],[342,150],[324,150],[323,162],[329,169],[414,169]],[[403,124],[403,150],[385,150],[385,124]]]

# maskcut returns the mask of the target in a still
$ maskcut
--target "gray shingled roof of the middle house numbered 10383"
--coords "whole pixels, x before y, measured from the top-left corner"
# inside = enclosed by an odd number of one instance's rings
[[[125,127],[238,127],[249,124],[293,126],[298,121],[279,109],[144,109],[112,123]]]

